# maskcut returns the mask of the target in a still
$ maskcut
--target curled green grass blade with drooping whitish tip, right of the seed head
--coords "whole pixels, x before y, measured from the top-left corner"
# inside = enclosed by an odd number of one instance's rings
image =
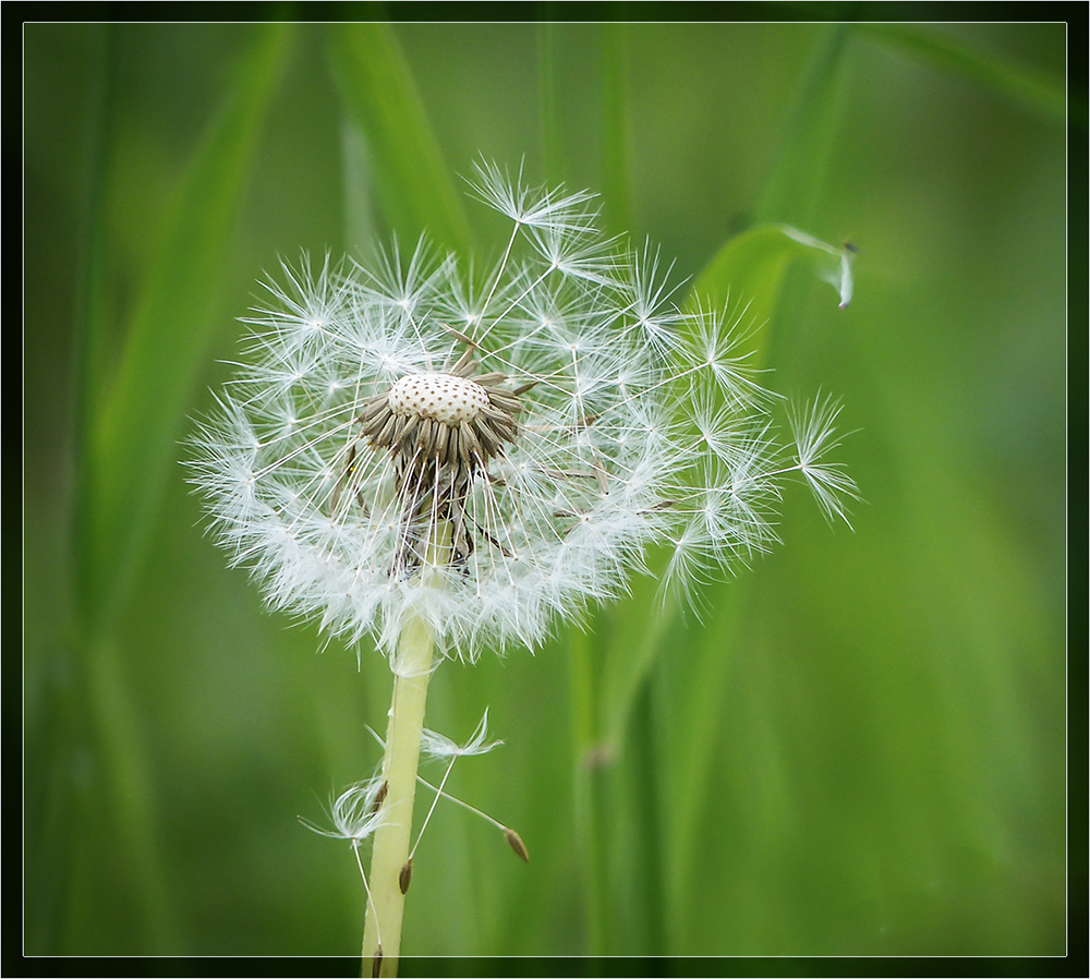
[[[688,305],[722,307],[728,301],[746,304],[746,319],[753,324],[758,365],[768,349],[771,323],[791,262],[801,258],[814,275],[837,292],[843,310],[851,301],[851,245],[837,247],[788,225],[761,225],[728,241],[697,277]]]

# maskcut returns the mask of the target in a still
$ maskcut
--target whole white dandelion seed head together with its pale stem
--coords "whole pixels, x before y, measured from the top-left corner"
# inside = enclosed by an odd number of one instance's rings
[[[219,541],[268,603],[389,658],[368,911],[388,964],[403,895],[382,895],[408,854],[436,662],[540,644],[623,593],[653,544],[664,588],[691,591],[768,547],[792,474],[828,517],[855,495],[823,461],[837,406],[797,411],[797,444],[777,443],[737,321],[682,312],[658,254],[606,239],[589,194],[489,165],[473,188],[511,222],[486,274],[424,242],[286,267],[195,438]]]

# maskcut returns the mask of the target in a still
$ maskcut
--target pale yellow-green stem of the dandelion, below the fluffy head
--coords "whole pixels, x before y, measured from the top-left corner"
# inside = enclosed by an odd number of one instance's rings
[[[434,575],[435,568],[446,564],[450,552],[449,523],[443,521],[433,530],[427,549],[423,573]],[[434,637],[427,625],[416,617],[409,619],[401,630],[393,667],[393,702],[383,760],[383,776],[388,786],[383,807],[388,818],[375,833],[371,860],[372,901],[363,932],[364,976],[372,975],[372,968],[378,960],[376,955],[380,955],[378,975],[396,976],[398,970],[405,902],[400,884],[401,868],[409,859],[416,769],[433,652]]]

